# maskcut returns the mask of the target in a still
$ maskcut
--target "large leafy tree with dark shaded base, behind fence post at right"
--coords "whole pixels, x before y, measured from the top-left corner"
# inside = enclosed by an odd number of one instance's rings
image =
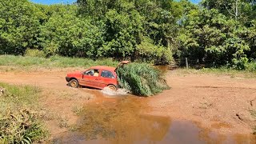
[[[214,65],[240,61],[250,50],[242,37],[245,31],[245,26],[218,10],[192,10],[187,15],[186,30],[179,36],[181,54]]]

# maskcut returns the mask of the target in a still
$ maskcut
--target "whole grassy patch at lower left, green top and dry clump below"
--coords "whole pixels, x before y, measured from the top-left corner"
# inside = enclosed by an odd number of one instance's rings
[[[38,110],[38,93],[34,86],[0,83],[0,143],[32,143],[46,138]]]

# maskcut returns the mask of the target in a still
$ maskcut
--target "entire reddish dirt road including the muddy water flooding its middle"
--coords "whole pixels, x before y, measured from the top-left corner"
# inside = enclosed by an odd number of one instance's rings
[[[255,143],[255,78],[167,71],[170,90],[138,98],[71,89],[70,70],[0,69],[0,82],[42,87],[54,143]]]

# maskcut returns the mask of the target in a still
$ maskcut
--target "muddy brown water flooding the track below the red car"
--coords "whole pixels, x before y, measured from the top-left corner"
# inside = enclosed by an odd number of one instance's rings
[[[151,108],[147,106],[147,98],[90,92],[97,98],[84,106],[77,130],[60,134],[53,143],[256,143],[250,134],[216,134],[197,122],[148,115]]]

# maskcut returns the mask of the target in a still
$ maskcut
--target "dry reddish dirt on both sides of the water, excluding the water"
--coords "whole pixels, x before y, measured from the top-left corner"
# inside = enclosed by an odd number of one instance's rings
[[[79,106],[101,101],[94,95],[97,90],[66,86],[66,73],[72,70],[0,70],[0,82],[42,87],[42,107],[53,115],[47,118],[46,125],[54,135],[76,122],[74,112]],[[172,88],[145,99],[151,107],[150,114],[199,122],[221,134],[252,133],[251,127],[256,125],[250,114],[256,110],[255,78],[179,74],[179,71],[167,72],[166,78]]]

